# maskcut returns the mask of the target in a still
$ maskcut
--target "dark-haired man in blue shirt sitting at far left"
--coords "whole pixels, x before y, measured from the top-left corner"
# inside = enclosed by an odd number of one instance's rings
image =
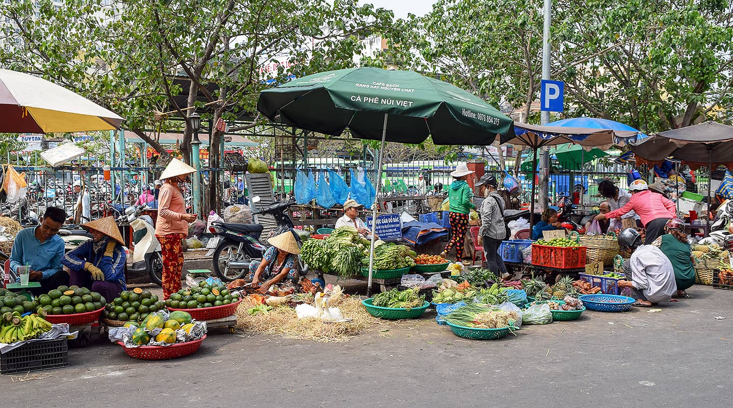
[[[32,288],[36,295],[47,294],[51,289],[69,284],[69,274],[61,267],[64,256],[64,240],[57,236],[64,225],[66,211],[48,207],[40,225],[18,232],[10,252],[10,270],[18,274],[18,266],[30,266],[29,280],[40,282],[40,288]],[[18,278],[17,282],[20,282]]]

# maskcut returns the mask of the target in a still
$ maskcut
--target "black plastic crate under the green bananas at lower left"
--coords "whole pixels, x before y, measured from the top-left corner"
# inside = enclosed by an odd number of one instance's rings
[[[2,375],[69,366],[69,346],[65,338],[34,341],[0,356]]]

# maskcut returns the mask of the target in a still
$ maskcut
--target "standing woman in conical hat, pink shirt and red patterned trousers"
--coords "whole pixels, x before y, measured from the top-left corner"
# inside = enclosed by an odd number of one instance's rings
[[[163,186],[158,193],[158,220],[155,222],[155,238],[161,243],[163,256],[163,299],[180,291],[183,269],[183,245],[188,236],[188,223],[196,221],[196,214],[185,213],[185,200],[178,183],[184,183],[194,167],[178,159],[172,159],[163,170]]]

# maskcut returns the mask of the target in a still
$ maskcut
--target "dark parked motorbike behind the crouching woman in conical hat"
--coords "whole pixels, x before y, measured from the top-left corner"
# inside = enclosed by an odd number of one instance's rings
[[[253,198],[255,205],[259,203],[259,197]],[[270,236],[276,236],[285,231],[291,231],[295,236],[298,246],[301,245],[302,239],[309,236],[308,233],[293,229],[292,220],[285,211],[291,205],[295,204],[295,200],[287,203],[273,203],[262,210],[252,211],[252,214],[270,214],[275,217],[277,227],[270,233]],[[232,280],[243,279],[249,273],[249,265],[252,261],[259,261],[268,247],[259,243],[259,237],[262,235],[263,227],[259,224],[229,224],[226,222],[215,221],[210,227],[210,232],[215,234],[207,244],[210,253],[213,253],[213,267],[216,276],[224,282],[232,282]],[[303,263],[298,256],[300,263],[301,275],[308,273],[308,266]]]

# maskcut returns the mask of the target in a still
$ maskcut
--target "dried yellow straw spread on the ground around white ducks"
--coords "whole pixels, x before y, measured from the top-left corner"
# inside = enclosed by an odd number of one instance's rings
[[[245,299],[237,307],[237,329],[320,343],[343,343],[364,329],[380,324],[379,319],[367,313],[358,297],[348,297],[332,305],[339,307],[345,318],[353,318],[352,321],[340,323],[325,323],[319,318],[299,319],[292,307],[276,307],[268,314],[257,313],[250,316],[247,310],[253,306]]]

